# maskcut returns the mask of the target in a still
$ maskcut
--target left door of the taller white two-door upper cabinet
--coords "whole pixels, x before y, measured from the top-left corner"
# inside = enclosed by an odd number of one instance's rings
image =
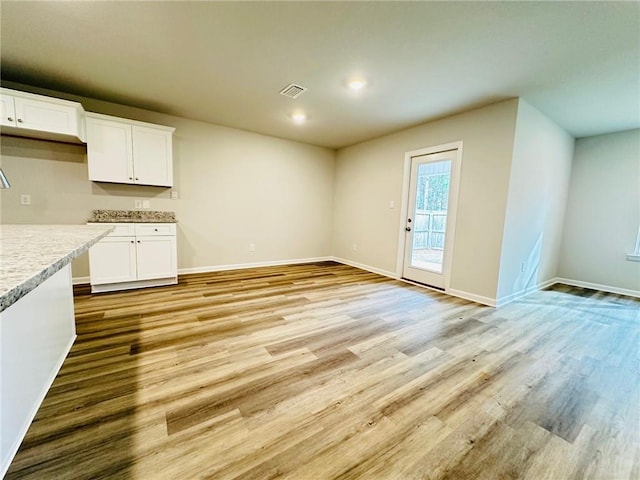
[[[131,125],[87,117],[89,180],[134,183]]]

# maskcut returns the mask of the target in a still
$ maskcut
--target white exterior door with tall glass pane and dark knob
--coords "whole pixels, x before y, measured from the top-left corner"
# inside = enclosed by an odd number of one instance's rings
[[[460,149],[411,156],[402,277],[449,284]]]

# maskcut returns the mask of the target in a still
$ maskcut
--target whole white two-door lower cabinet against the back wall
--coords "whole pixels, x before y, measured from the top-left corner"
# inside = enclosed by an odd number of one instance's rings
[[[178,283],[175,223],[114,223],[89,249],[91,291]]]

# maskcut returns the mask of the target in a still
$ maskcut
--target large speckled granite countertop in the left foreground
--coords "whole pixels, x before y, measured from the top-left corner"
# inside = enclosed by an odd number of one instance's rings
[[[107,225],[0,225],[0,312],[111,230]]]

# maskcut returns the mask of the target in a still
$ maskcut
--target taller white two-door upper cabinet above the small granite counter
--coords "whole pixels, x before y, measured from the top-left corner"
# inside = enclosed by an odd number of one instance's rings
[[[173,186],[174,128],[87,113],[89,180]]]

